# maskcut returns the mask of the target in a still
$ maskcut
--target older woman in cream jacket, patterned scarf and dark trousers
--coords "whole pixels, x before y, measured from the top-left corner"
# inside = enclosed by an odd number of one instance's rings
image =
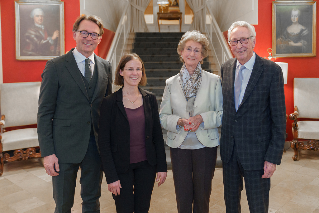
[[[194,206],[193,212],[208,213],[223,114],[220,77],[201,68],[208,40],[199,31],[186,32],[177,52],[184,64],[166,80],[160,123],[167,130],[178,212]]]

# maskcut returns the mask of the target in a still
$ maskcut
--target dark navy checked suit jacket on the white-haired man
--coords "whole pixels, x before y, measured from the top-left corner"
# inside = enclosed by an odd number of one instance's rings
[[[280,165],[286,138],[284,79],[280,66],[256,54],[255,64],[236,112],[234,79],[237,59],[221,66],[223,120],[220,156],[225,163],[234,143],[243,168],[262,170],[264,161]]]

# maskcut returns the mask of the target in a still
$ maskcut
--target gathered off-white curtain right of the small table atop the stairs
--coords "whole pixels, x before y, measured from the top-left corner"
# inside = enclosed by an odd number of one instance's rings
[[[205,0],[186,0],[190,9],[194,13],[193,22],[190,26],[191,30],[199,30],[200,32],[205,32]]]

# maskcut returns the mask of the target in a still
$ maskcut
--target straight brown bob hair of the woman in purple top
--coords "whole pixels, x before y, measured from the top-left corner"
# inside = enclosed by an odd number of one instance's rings
[[[139,86],[145,86],[147,82],[146,74],[145,74],[145,68],[144,68],[144,63],[142,59],[136,54],[136,53],[129,53],[124,55],[120,62],[119,65],[117,65],[116,70],[115,70],[115,79],[114,79],[114,84],[117,86],[123,86],[124,85],[124,78],[122,75],[120,75],[120,70],[122,70],[126,63],[131,61],[131,60],[139,60],[142,64],[142,78],[140,82],[138,83]]]

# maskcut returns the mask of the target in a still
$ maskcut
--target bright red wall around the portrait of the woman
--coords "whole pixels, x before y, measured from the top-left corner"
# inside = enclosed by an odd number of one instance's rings
[[[256,29],[256,46],[255,52],[260,57],[269,56],[267,49],[272,47],[272,0],[258,0],[258,25],[254,25]],[[318,5],[316,5],[318,7]],[[316,13],[316,20],[318,20],[318,13]],[[319,72],[316,65],[319,64],[318,58],[318,33],[316,34],[316,57],[286,57],[277,58],[276,62],[288,63],[288,81],[285,84],[286,97],[286,113],[287,133],[286,141],[293,139],[292,121],[289,119],[289,114],[293,112],[293,78],[319,78]],[[272,59],[273,60],[273,59]]]

